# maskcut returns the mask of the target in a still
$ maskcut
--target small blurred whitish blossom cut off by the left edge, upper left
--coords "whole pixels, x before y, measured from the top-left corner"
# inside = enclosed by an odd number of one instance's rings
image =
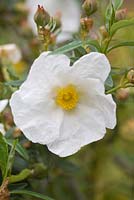
[[[0,58],[1,57],[4,57],[16,64],[21,60],[22,55],[16,44],[5,44],[0,45]]]

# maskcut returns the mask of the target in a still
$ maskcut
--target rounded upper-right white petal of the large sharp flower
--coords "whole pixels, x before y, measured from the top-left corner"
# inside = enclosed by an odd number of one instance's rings
[[[92,52],[76,61],[72,71],[83,78],[97,78],[105,81],[110,72],[110,64],[104,54]]]

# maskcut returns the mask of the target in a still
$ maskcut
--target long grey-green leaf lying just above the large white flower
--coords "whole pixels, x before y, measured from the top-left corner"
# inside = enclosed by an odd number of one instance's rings
[[[101,47],[96,40],[85,40],[85,41],[74,41],[69,44],[66,44],[52,52],[52,54],[62,54],[77,49],[79,47],[83,47],[84,45],[89,45],[95,47],[98,51],[100,51]]]

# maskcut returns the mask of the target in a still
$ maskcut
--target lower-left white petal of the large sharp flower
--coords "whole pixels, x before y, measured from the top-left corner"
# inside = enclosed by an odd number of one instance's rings
[[[47,144],[59,136],[63,113],[52,101],[37,103],[33,96],[25,98],[19,90],[12,95],[10,105],[16,125],[32,142]]]

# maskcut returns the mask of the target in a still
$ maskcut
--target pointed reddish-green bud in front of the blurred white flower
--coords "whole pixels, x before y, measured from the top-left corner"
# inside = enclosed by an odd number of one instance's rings
[[[43,6],[38,5],[38,9],[34,15],[34,21],[37,26],[46,26],[50,21],[50,15],[45,11]]]

